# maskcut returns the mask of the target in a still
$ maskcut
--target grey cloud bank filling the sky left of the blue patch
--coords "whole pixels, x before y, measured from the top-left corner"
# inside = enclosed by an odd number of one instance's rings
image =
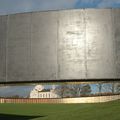
[[[0,0],[0,14],[74,8],[78,0]]]

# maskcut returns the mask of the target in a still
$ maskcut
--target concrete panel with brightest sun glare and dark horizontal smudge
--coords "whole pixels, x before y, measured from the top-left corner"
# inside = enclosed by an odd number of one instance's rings
[[[58,32],[58,78],[85,78],[84,10],[59,11]]]

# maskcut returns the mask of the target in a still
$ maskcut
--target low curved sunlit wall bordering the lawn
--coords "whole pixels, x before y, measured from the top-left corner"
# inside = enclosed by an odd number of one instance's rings
[[[61,99],[0,99],[0,103],[100,103],[120,99],[120,95]]]

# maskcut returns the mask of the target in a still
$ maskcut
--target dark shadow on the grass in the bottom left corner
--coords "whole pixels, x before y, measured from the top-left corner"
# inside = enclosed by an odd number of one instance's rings
[[[25,115],[12,115],[12,114],[1,114],[0,120],[31,120],[35,118],[41,118],[45,116],[25,116]]]

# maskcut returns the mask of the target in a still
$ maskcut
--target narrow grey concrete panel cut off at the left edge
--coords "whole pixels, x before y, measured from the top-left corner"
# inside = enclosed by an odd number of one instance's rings
[[[7,16],[0,16],[0,82],[6,80]]]

